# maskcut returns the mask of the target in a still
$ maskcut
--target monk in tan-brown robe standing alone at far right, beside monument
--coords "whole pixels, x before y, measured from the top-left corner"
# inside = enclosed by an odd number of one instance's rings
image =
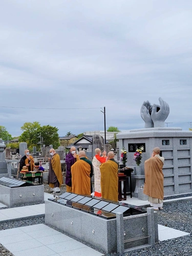
[[[152,157],[145,161],[145,184],[143,193],[148,196],[148,201],[154,210],[163,209],[163,164],[164,157],[160,157],[160,148],[155,147]]]

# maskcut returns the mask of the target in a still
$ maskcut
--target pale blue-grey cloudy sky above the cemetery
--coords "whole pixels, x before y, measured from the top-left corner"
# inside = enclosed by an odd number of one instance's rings
[[[0,125],[140,129],[143,101],[192,126],[191,0],[2,0]]]

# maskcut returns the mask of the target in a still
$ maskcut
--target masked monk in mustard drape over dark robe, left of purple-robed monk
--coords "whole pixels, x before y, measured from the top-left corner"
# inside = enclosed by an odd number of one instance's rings
[[[60,192],[60,186],[63,183],[60,157],[55,152],[54,148],[49,151],[51,158],[49,158],[49,176],[48,184],[51,188],[51,192]]]

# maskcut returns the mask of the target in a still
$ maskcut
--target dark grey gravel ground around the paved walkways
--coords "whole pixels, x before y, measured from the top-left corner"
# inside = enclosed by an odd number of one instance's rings
[[[45,185],[45,192],[49,193],[49,186]],[[60,193],[61,195],[65,193],[66,187],[62,186]],[[191,196],[189,194],[188,196]],[[181,196],[180,196],[181,197]],[[184,196],[182,196],[184,197]],[[173,198],[173,197],[170,197]],[[177,196],[176,196],[177,198]],[[185,201],[185,202],[178,202],[178,203],[171,203],[168,205],[164,205],[164,209],[157,212],[158,214],[158,224],[179,229],[181,231],[185,231],[190,233],[192,227],[192,201]],[[2,222],[0,225],[0,230],[15,228],[20,226],[28,226],[34,225],[39,223],[45,223],[44,217],[33,217],[27,220],[20,220],[20,221],[9,221],[9,222]],[[59,230],[60,231],[60,230]],[[65,233],[61,231],[62,233]],[[70,236],[71,237],[71,236]],[[97,249],[98,248],[94,248]],[[99,250],[100,251],[100,250]],[[103,253],[102,251],[100,251]],[[104,254],[104,253],[103,253]],[[0,255],[1,256],[13,256],[5,247],[0,244]],[[142,250],[137,250],[129,253],[118,254],[106,254],[108,256],[190,256],[192,255],[192,235],[166,240],[162,242],[158,242],[155,246],[148,247]],[[91,256],[91,255],[88,255]]]

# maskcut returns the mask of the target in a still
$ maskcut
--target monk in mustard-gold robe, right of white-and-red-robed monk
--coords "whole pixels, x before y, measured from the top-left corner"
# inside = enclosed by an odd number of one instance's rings
[[[114,152],[108,153],[108,161],[102,163],[101,171],[101,197],[118,201],[118,163],[114,160]]]

